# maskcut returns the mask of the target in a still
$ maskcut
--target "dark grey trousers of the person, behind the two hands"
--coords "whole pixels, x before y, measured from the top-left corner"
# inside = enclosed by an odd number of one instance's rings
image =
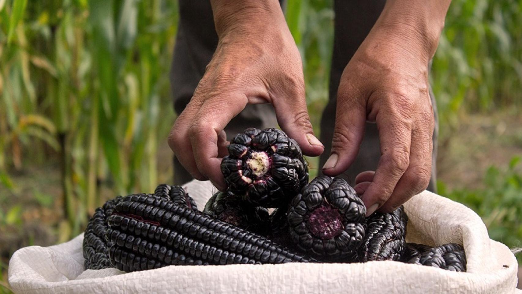
[[[336,0],[334,52],[331,63],[329,101],[321,119],[321,142],[325,151],[319,159],[319,168],[328,159],[331,148],[331,138],[334,132],[337,88],[342,71],[351,57],[359,48],[364,38],[372,29],[381,14],[385,0]],[[171,86],[174,97],[174,110],[180,114],[190,101],[199,80],[205,73],[205,67],[210,62],[218,44],[214,28],[212,10],[208,0],[180,0],[180,22],[174,46],[172,60]],[[430,90],[435,122],[437,125],[436,104]],[[276,127],[277,121],[274,109],[270,104],[247,105],[245,110],[236,116],[225,128],[229,139],[247,127]],[[433,168],[428,190],[435,189],[435,158],[438,127],[433,134]],[[353,181],[355,176],[366,170],[375,170],[381,157],[377,127],[366,124],[364,139],[359,155],[342,177]],[[174,184],[183,184],[192,177],[174,158]]]

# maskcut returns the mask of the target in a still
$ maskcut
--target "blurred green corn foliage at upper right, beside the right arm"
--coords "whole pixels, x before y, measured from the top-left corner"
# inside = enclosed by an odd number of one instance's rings
[[[520,107],[522,1],[454,0],[433,60],[431,84],[443,136],[455,115]]]

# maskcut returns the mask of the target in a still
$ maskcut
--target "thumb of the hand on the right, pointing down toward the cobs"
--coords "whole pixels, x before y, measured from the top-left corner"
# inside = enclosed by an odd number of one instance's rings
[[[366,99],[348,83],[339,86],[334,135],[330,157],[323,173],[336,176],[345,172],[359,152],[366,122]]]

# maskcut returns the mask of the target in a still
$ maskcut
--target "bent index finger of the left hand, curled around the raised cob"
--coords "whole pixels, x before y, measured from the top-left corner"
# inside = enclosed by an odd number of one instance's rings
[[[245,108],[246,103],[246,97],[241,94],[207,99],[188,131],[199,172],[219,190],[226,189],[227,185],[221,174],[218,136],[233,117]]]

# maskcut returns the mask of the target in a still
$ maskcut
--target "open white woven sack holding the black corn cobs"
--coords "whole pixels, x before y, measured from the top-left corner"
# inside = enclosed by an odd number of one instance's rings
[[[186,186],[198,207],[212,193],[207,182]],[[431,192],[405,204],[407,239],[428,245],[464,244],[467,273],[383,261],[364,264],[168,266],[125,274],[84,271],[82,239],[18,250],[9,262],[15,293],[522,293],[517,261],[471,209]]]

